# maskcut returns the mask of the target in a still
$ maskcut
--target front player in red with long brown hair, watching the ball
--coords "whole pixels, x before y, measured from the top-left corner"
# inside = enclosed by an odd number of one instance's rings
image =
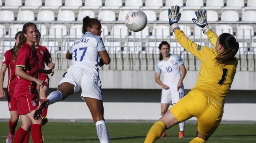
[[[13,143],[22,143],[30,128],[33,142],[43,142],[41,133],[42,119],[34,120],[33,118],[34,110],[38,106],[36,100],[37,84],[42,88],[44,86],[44,81],[38,79],[39,60],[34,48],[37,37],[37,26],[34,23],[24,24],[19,43],[15,48],[15,52],[18,55],[15,68],[17,83],[14,89],[14,97],[22,124],[16,132]]]

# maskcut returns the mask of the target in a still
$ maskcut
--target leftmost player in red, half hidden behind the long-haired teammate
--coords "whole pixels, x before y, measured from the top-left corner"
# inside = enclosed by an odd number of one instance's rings
[[[22,33],[21,31],[16,33],[14,47],[5,52],[5,55],[2,61],[1,72],[0,72],[0,98],[5,98],[5,92],[3,90],[3,81],[5,77],[5,71],[8,68],[7,98],[8,98],[8,107],[10,111],[10,120],[9,120],[10,132],[6,139],[6,143],[12,143],[13,136],[15,133],[15,128],[17,126],[18,118],[19,118],[16,102],[14,99],[14,88],[17,83],[16,77],[15,77],[15,65],[16,65],[17,53],[14,52],[14,49],[16,45],[18,45],[18,40],[21,33]]]

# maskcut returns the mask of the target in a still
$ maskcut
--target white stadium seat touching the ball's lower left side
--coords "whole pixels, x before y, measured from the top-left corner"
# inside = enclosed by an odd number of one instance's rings
[[[114,25],[110,35],[107,38],[126,38],[128,36],[128,28],[123,25]]]

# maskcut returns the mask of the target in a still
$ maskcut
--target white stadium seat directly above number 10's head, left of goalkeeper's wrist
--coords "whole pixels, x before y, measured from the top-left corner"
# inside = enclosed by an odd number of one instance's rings
[[[149,36],[149,38],[154,39],[167,39],[170,36],[170,26],[166,25],[157,25],[154,26],[152,30],[152,36]]]

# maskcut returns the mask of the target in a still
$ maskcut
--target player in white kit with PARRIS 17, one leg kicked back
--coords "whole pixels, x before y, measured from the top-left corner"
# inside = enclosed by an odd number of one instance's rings
[[[110,63],[110,57],[100,37],[101,23],[95,18],[86,16],[83,19],[82,38],[76,40],[69,48],[66,58],[72,59],[72,66],[63,74],[63,80],[50,95],[42,101],[34,113],[34,119],[41,118],[42,110],[49,104],[64,100],[69,95],[82,91],[101,143],[109,143],[109,134],[103,117],[101,80],[99,66]]]

